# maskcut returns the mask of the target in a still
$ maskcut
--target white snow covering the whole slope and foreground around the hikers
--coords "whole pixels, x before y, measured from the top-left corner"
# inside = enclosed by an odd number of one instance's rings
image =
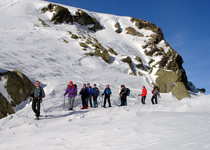
[[[40,13],[47,4],[40,0],[0,2],[0,68],[17,69],[32,81],[39,80],[46,93],[45,109],[41,106],[39,121],[34,120],[31,104],[26,102],[16,108],[19,110],[16,114],[0,120],[1,150],[210,149],[209,95],[192,93],[192,98],[177,101],[171,93],[161,94],[159,104],[152,105],[150,91],[154,74],[128,75],[129,68],[119,56],[112,64],[95,56],[85,56],[79,46],[82,39],[71,39],[67,33],[84,34],[85,31],[75,25],[53,25],[49,13]],[[77,10],[68,8],[72,13]],[[91,37],[121,55],[144,56],[143,62],[148,63],[150,58],[141,48],[148,37],[137,38],[124,33],[119,36],[114,32],[116,21],[122,28],[132,26],[136,29],[129,17],[89,13],[105,28],[89,33]],[[51,27],[42,27],[38,17]],[[145,30],[141,33],[152,34]],[[63,39],[69,43],[64,43]],[[66,111],[68,105],[63,110],[63,93],[70,80],[78,85],[78,90],[83,83],[90,82],[96,83],[102,92],[106,84],[110,84],[112,107],[81,110],[81,100],[77,96],[74,111]],[[116,106],[121,84],[131,90],[127,107]],[[143,85],[148,90],[146,105],[141,105],[138,97]],[[99,102],[101,100],[100,97]]]

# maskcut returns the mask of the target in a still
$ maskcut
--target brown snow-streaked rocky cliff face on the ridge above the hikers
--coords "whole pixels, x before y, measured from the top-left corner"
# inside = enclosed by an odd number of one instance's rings
[[[73,14],[71,10],[54,4],[49,4],[42,8],[41,12],[51,12],[53,15],[50,21],[54,24],[81,25],[79,28],[83,28],[85,32],[78,34],[69,33],[72,35],[72,38],[80,41],[79,44],[83,51],[89,51],[85,52],[85,55],[101,57],[110,64],[114,60],[120,59],[125,65],[127,64],[130,75],[145,76],[154,74],[155,78],[152,84],[153,86],[158,86],[160,92],[172,92],[179,100],[184,97],[190,97],[187,75],[182,66],[184,61],[165,41],[161,28],[155,24],[132,17],[129,19],[130,22],[127,23],[130,26],[125,26],[119,19],[115,21],[113,33],[110,32],[111,34],[117,33],[118,36],[127,35],[145,39],[141,48],[139,48],[139,51],[143,52],[144,55],[131,54],[129,56],[116,52],[115,49],[118,49],[118,47],[113,48],[109,45],[104,45],[103,42],[94,37],[94,33],[88,34],[91,31],[107,30],[104,27],[105,25],[99,21],[100,18],[96,19],[83,10],[77,10]],[[145,34],[146,32],[150,32],[150,34]],[[132,51],[132,49],[129,50]],[[145,57],[147,57],[147,60],[145,60]]]

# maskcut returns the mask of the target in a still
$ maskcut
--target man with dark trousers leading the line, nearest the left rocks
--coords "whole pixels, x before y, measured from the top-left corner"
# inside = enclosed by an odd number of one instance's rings
[[[38,119],[40,116],[40,103],[42,103],[42,98],[45,97],[44,90],[40,87],[39,81],[36,81],[36,86],[31,91],[30,96],[33,97],[32,110]]]

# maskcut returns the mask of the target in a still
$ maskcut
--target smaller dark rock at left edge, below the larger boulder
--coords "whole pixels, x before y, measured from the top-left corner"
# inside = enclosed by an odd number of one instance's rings
[[[0,93],[0,119],[6,117],[8,114],[15,113],[12,105]]]

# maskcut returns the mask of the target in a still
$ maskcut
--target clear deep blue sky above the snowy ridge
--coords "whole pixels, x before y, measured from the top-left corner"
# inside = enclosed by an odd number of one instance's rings
[[[210,0],[48,0],[158,25],[183,57],[188,80],[210,94]]]

